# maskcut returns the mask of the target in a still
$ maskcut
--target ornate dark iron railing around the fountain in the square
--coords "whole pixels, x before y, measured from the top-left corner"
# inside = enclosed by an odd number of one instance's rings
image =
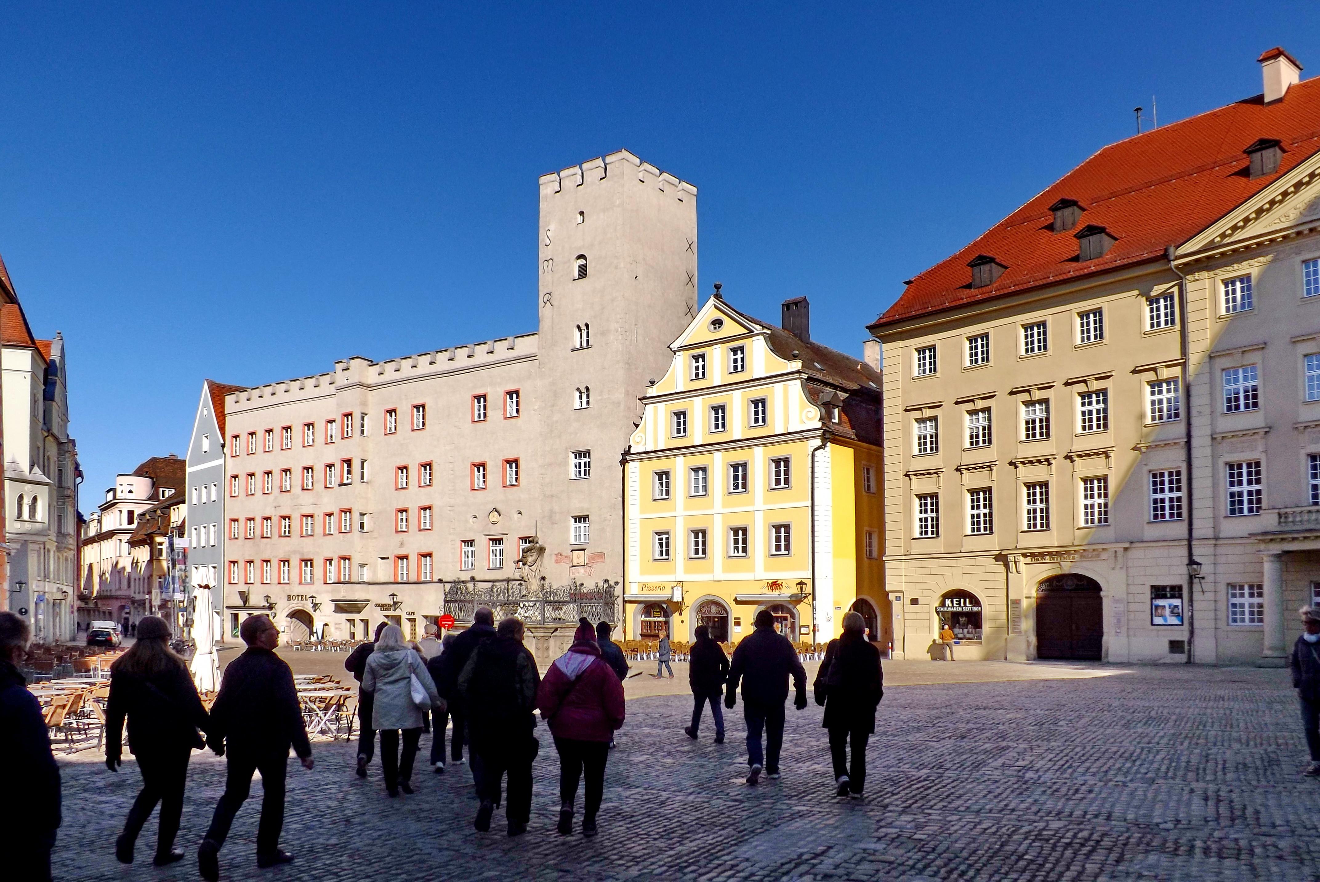
[[[550,585],[544,577],[535,585],[517,578],[454,580],[445,582],[445,614],[455,622],[469,623],[480,606],[495,613],[495,622],[516,615],[527,625],[573,625],[581,617],[590,622],[614,622],[618,582],[605,580],[587,585],[572,580],[568,585]]]

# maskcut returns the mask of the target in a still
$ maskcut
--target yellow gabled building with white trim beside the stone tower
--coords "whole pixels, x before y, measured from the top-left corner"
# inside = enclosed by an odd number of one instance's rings
[[[624,452],[624,636],[737,643],[762,609],[796,642],[857,609],[891,621],[880,561],[880,374],[810,342],[805,297],[783,327],[715,294],[669,346]]]

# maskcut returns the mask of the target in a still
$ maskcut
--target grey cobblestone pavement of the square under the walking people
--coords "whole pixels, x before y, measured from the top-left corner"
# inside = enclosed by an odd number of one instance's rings
[[[1098,665],[1097,665],[1098,667]],[[531,831],[471,829],[463,771],[420,770],[391,800],[372,763],[318,742],[317,767],[289,768],[281,844],[259,871],[260,788],[220,856],[227,879],[1315,879],[1320,782],[1305,759],[1283,671],[1115,668],[1113,676],[891,688],[867,755],[865,801],[833,796],[820,709],[788,710],[784,776],[747,787],[741,709],[729,742],[681,731],[690,700],[643,697],[610,758],[601,834],[554,833],[558,762],[545,729]],[[422,742],[425,751],[426,739]],[[139,864],[112,842],[139,786],[91,751],[65,762],[57,879],[195,879],[195,849],[222,766],[194,754],[180,842],[189,860],[154,870],[156,821]],[[581,796],[578,797],[581,807]]]

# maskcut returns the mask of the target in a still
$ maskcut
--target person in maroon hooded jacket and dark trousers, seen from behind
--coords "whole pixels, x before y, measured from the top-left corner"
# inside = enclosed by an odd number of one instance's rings
[[[573,832],[578,780],[586,776],[582,834],[595,836],[595,816],[605,796],[610,741],[623,725],[623,684],[601,658],[591,623],[579,619],[573,646],[554,660],[536,695],[541,718],[550,726],[560,754],[560,824]]]

